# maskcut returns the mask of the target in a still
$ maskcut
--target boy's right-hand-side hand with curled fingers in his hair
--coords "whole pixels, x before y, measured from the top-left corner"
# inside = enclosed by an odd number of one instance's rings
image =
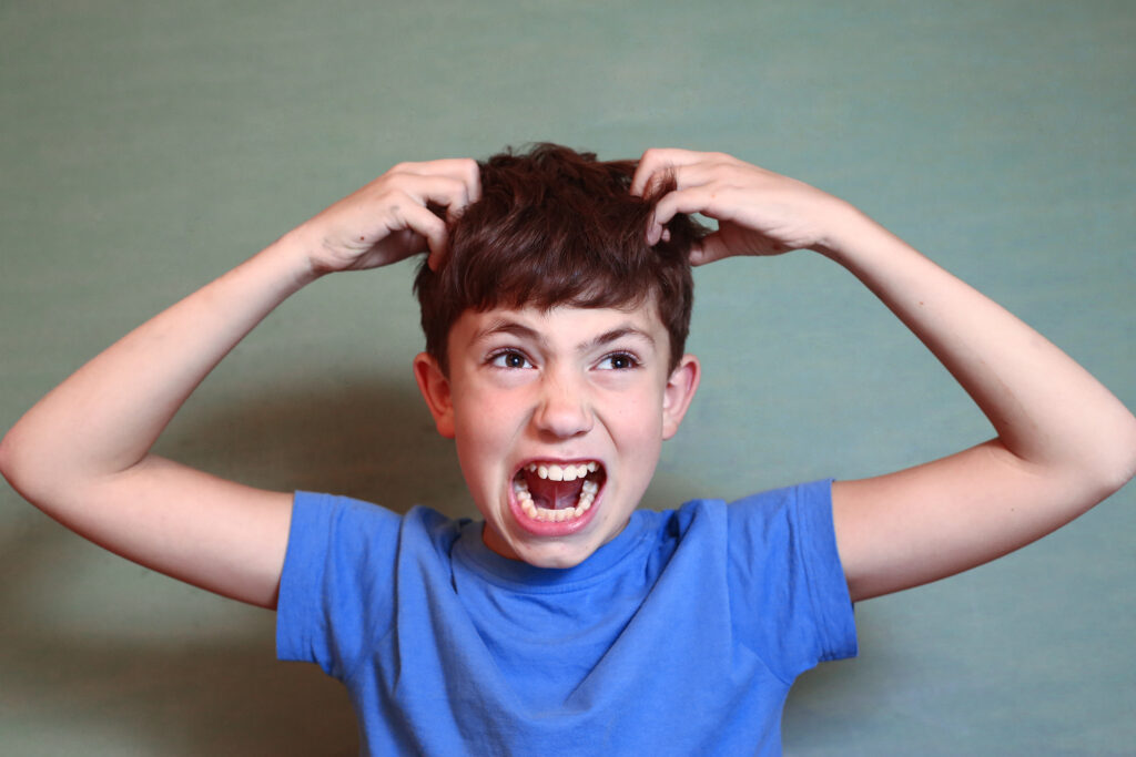
[[[648,150],[632,179],[643,196],[673,176],[677,187],[663,195],[648,224],[655,244],[676,213],[702,213],[718,230],[691,250],[691,263],[732,255],[777,255],[790,250],[825,251],[832,229],[851,207],[815,187],[720,152]]]

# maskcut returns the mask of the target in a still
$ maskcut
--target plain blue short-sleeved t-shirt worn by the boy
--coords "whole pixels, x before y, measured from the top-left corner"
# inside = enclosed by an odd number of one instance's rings
[[[349,689],[370,754],[780,754],[797,674],[855,655],[828,481],[637,511],[576,567],[481,522],[299,493],[277,651]]]

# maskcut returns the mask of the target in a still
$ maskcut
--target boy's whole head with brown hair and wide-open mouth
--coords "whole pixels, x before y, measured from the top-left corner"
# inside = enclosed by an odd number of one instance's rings
[[[646,244],[655,199],[633,161],[537,145],[482,163],[482,195],[415,284],[427,352],[415,375],[457,443],[486,545],[578,564],[626,525],[699,381],[684,355],[687,217]]]

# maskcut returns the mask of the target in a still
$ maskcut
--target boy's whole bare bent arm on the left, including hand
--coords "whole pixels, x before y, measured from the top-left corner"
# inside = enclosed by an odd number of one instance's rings
[[[150,454],[178,407],[276,305],[324,274],[444,253],[478,192],[471,160],[395,167],[111,345],[0,441],[0,472],[81,536],[181,580],[273,607],[291,496]]]

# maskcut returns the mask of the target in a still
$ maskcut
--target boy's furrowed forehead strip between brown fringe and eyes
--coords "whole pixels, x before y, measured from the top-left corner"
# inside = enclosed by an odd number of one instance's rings
[[[617,339],[666,352],[667,329],[654,298],[632,308],[493,308],[465,311],[450,330],[449,351],[457,352],[500,340],[520,339],[549,350],[584,351]]]

